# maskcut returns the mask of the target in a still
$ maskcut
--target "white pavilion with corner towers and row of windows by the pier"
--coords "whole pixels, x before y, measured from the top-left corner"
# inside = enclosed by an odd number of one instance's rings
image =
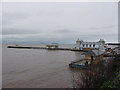
[[[77,40],[76,41],[76,49],[99,49],[99,50],[105,50],[106,45],[105,41],[103,39],[100,39],[97,42],[84,42],[83,40]]]

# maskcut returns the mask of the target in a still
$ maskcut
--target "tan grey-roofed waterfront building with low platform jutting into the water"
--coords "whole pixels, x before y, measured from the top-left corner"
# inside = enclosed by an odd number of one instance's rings
[[[83,60],[72,61],[69,66],[72,68],[87,68],[88,65],[97,64],[103,60],[104,51],[88,50],[82,56]]]

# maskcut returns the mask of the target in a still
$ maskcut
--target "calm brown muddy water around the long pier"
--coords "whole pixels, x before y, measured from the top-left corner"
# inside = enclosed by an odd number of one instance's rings
[[[34,45],[33,45],[34,46]],[[71,47],[74,45],[61,45]],[[68,64],[80,52],[2,47],[3,88],[72,88]]]

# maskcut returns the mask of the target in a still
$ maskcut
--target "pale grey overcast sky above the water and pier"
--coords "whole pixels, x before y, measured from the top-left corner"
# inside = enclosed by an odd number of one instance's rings
[[[117,2],[2,4],[3,42],[118,42]]]

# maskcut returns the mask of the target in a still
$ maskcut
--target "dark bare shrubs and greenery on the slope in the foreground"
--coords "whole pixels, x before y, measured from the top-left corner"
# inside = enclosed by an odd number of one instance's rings
[[[103,61],[92,65],[89,70],[80,74],[76,88],[120,88],[120,56],[108,61],[107,64]]]

